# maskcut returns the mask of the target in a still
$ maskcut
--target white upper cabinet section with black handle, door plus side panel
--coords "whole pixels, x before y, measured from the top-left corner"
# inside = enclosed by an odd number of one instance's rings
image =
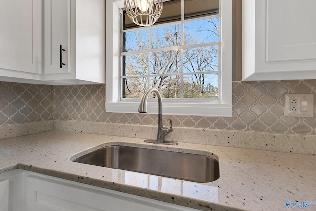
[[[105,80],[104,0],[45,0],[45,80]]]

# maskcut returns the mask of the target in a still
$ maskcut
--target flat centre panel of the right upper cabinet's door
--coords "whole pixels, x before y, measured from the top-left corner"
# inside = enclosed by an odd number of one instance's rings
[[[316,1],[267,1],[267,62],[316,59]]]

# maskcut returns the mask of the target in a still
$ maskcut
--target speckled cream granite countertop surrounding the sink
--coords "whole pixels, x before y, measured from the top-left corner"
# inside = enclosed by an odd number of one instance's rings
[[[88,148],[93,151],[118,143],[214,153],[220,178],[195,183],[70,161]],[[189,143],[160,146],[136,138],[50,131],[0,140],[0,173],[16,168],[200,210],[276,211],[287,210],[288,200],[316,201],[315,155]],[[316,204],[311,208],[316,210]]]

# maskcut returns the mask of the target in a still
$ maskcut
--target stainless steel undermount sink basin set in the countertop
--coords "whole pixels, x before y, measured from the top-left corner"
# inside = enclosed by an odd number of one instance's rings
[[[218,160],[213,157],[158,149],[106,146],[72,161],[194,182],[219,178]]]

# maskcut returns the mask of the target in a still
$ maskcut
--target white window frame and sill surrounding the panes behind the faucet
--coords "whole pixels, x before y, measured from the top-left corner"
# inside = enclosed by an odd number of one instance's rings
[[[218,75],[220,102],[163,102],[164,114],[232,116],[232,0],[220,1],[220,58]],[[121,101],[121,22],[120,8],[124,0],[106,0],[105,110],[106,112],[137,113],[139,101]],[[148,113],[158,113],[158,103],[148,103]]]

